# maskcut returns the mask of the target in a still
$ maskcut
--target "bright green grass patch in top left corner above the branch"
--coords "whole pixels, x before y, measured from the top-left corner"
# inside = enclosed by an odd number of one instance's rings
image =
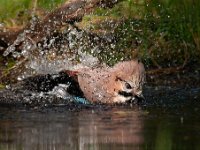
[[[52,10],[65,0],[0,0],[0,22],[9,27],[25,25],[33,13]],[[36,12],[34,12],[36,11]]]

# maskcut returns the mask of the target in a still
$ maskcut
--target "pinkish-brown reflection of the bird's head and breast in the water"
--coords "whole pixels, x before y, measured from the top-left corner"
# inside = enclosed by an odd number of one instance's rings
[[[140,145],[143,141],[141,135],[141,112],[110,111],[99,114],[90,113],[79,118],[80,149],[93,147],[94,149],[110,149],[112,144],[115,149]],[[114,147],[113,147],[114,146]]]

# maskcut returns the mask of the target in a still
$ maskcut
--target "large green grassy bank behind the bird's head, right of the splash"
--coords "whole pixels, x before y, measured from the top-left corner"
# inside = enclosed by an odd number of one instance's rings
[[[162,68],[200,63],[199,14],[196,1],[126,0],[113,9],[97,9],[91,17],[123,19],[115,31],[116,49],[125,55],[118,55],[119,59],[130,57],[130,50],[135,49],[147,65]]]

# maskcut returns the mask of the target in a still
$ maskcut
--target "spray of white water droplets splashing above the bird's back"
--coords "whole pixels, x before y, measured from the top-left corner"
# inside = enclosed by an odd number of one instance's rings
[[[35,74],[53,74],[61,70],[96,67],[107,60],[112,61],[115,57],[113,30],[98,34],[68,24],[59,31],[46,33],[37,41],[38,31],[35,29],[38,22],[33,16],[30,27],[20,33],[3,54],[12,54],[19,61],[26,61],[25,68],[18,76],[20,80]],[[116,28],[113,21],[108,24]]]

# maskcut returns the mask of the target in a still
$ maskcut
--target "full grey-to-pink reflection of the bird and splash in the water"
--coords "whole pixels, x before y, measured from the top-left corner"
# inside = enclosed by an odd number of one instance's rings
[[[132,149],[143,142],[135,109],[0,111],[0,149]]]

